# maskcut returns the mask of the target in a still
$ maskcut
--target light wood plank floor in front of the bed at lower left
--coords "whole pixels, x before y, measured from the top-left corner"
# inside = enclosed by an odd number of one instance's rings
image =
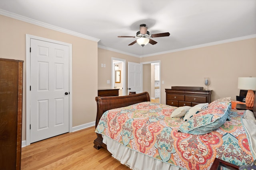
[[[95,127],[65,133],[22,148],[22,170],[130,170],[108,150],[96,150]]]

